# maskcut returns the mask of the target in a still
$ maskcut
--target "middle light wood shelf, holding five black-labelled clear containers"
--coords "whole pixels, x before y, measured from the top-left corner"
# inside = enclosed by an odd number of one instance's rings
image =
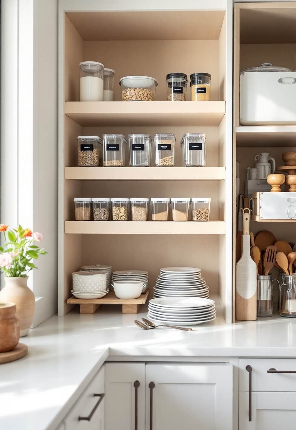
[[[223,181],[225,167],[66,167],[65,179],[79,181]]]

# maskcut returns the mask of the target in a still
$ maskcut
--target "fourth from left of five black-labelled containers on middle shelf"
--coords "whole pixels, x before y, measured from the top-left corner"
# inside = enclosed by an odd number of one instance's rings
[[[174,166],[176,136],[172,133],[154,135],[155,165],[161,167]]]

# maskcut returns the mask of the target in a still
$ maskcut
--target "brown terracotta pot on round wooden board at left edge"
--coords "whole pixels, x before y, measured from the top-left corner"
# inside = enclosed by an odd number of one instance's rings
[[[0,353],[13,350],[19,341],[15,303],[0,303]]]

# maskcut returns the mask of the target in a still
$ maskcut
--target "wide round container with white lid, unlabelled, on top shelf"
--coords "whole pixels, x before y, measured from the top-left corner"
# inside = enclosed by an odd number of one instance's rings
[[[119,80],[122,101],[153,101],[157,80],[150,76],[125,76]]]

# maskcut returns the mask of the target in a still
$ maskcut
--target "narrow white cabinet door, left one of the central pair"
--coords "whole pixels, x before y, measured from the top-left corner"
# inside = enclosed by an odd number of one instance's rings
[[[105,430],[144,430],[145,363],[107,363],[105,371]]]

